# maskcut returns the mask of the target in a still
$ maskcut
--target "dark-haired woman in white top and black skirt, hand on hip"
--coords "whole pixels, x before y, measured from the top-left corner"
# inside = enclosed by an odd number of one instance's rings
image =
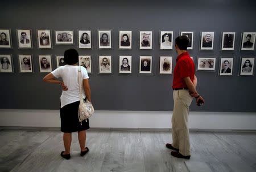
[[[78,132],[78,139],[81,148],[80,156],[84,156],[89,149],[85,147],[86,141],[86,132],[89,127],[89,120],[86,119],[82,121],[82,124],[79,122],[77,115],[80,96],[79,96],[79,80],[78,80],[78,71],[79,66],[79,54],[75,49],[65,50],[64,53],[64,62],[67,64],[65,66],[60,66],[56,70],[47,74],[43,81],[47,83],[60,84],[63,88],[62,94],[60,96],[60,119],[61,119],[61,131],[63,134],[63,141],[65,151],[61,152],[61,157],[69,160],[70,156],[70,147],[72,140],[72,132]],[[90,85],[89,85],[89,76],[84,67],[81,66],[81,76],[82,76],[82,98],[87,98],[90,100]],[[63,81],[58,80],[57,78],[62,78]]]

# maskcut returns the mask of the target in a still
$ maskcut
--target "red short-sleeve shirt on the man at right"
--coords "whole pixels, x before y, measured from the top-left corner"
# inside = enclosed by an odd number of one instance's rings
[[[180,54],[176,59],[174,68],[174,81],[172,88],[187,88],[183,78],[188,77],[193,82],[195,76],[195,64],[188,52]]]

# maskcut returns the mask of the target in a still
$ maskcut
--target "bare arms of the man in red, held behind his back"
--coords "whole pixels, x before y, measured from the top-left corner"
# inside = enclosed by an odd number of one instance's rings
[[[196,77],[195,77],[196,78]],[[199,102],[199,100],[203,101],[203,104],[204,104],[204,98],[201,97],[199,95],[199,93],[197,93],[196,91],[196,87],[195,85],[197,85],[197,78],[193,80],[193,83],[192,81],[190,80],[189,76],[188,77],[185,77],[183,78],[183,80],[185,81],[185,84],[187,85],[188,89],[189,89],[189,93],[192,97],[195,97],[196,98],[196,103]]]

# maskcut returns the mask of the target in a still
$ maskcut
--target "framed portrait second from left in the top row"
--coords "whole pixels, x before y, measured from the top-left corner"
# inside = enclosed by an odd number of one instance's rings
[[[32,48],[32,36],[30,29],[17,29],[18,48]]]

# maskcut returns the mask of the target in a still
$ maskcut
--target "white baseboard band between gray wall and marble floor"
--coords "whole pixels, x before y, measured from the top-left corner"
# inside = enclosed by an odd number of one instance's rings
[[[96,110],[92,128],[171,128],[172,111]],[[256,130],[256,113],[189,113],[189,128],[200,130]],[[0,126],[60,127],[59,110],[0,109]]]

